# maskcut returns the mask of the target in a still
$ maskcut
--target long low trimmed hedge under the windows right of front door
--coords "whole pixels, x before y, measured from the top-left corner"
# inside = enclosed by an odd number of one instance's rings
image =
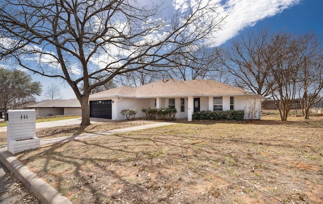
[[[193,120],[243,120],[244,110],[202,110],[192,115]]]

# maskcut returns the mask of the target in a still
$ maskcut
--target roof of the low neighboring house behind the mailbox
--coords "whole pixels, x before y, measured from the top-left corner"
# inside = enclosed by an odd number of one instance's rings
[[[28,108],[80,108],[81,104],[77,99],[45,100],[28,106]]]

